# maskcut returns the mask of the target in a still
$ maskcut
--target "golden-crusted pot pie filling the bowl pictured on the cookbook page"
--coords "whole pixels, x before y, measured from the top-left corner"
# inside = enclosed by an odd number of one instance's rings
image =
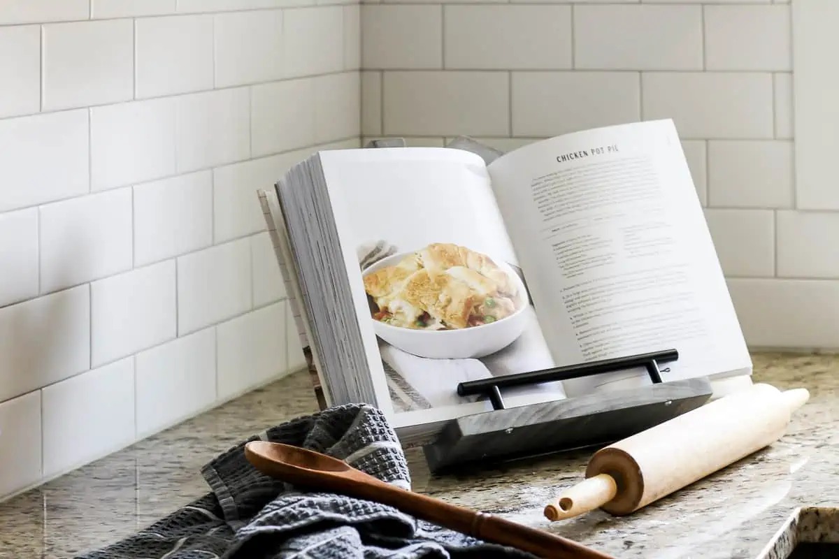
[[[373,318],[409,329],[451,330],[492,323],[519,309],[516,284],[465,246],[435,243],[364,277]]]

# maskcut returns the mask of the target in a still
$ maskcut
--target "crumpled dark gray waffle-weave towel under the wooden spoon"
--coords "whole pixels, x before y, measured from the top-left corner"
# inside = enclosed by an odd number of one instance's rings
[[[336,406],[248,440],[311,448],[409,489],[399,441],[378,409]],[[238,444],[202,468],[211,491],[143,531],[81,559],[532,559],[363,499],[260,474]]]

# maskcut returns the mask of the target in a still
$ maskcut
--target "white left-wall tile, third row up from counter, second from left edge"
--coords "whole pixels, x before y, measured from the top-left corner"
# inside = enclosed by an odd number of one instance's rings
[[[107,277],[132,266],[131,190],[40,208],[40,291]]]

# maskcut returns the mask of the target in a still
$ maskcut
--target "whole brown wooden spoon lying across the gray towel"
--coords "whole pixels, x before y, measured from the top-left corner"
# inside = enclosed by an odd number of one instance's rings
[[[343,460],[305,448],[251,441],[245,445],[245,456],[254,468],[273,478],[390,505],[479,540],[516,547],[545,559],[613,559],[546,531],[399,489]]]

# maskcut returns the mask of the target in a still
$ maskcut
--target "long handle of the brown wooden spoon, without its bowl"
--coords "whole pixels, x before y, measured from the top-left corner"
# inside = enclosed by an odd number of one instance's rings
[[[479,540],[515,547],[543,559],[614,559],[562,536],[555,536],[550,532],[536,530],[484,512],[451,505],[429,495],[406,491],[380,481],[378,484],[367,484],[364,489],[359,484],[356,490],[360,497],[391,505],[409,515]]]

